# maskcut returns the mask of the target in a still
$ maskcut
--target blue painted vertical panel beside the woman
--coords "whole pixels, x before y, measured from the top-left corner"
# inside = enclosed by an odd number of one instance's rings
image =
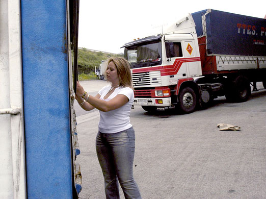
[[[72,198],[66,2],[21,1],[28,198]]]

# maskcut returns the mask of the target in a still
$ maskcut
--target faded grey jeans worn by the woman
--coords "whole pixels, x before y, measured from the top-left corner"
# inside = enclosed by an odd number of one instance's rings
[[[131,127],[118,133],[98,132],[96,152],[104,177],[107,199],[119,199],[119,185],[127,199],[141,199],[133,177],[135,131]]]

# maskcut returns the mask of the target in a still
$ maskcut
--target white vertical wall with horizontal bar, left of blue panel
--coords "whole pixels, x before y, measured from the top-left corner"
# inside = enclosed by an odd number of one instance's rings
[[[20,1],[0,0],[0,198],[26,198]]]

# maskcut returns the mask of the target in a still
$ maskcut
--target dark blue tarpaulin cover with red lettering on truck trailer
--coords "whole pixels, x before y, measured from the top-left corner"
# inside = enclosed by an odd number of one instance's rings
[[[203,10],[192,16],[197,36],[206,31],[208,55],[266,56],[266,19],[218,10]]]

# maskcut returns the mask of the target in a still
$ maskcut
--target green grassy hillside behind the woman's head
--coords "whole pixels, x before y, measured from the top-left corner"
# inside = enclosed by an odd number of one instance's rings
[[[108,57],[124,57],[124,54],[94,52],[94,51],[89,51],[86,48],[78,48],[78,53],[77,53],[78,80],[82,81],[82,80],[96,79],[95,66],[99,66],[101,60],[108,59]]]

